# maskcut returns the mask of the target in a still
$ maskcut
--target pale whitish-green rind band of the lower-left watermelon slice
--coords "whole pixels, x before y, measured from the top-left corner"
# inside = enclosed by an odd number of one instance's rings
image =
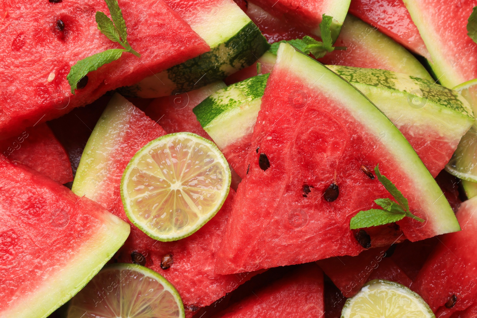
[[[45,318],[70,300],[96,275],[129,236],[129,225],[119,217],[103,211],[103,225],[92,233],[83,246],[68,255],[68,264],[52,267],[34,290],[26,291],[4,318]],[[2,304],[2,307],[6,304]]]

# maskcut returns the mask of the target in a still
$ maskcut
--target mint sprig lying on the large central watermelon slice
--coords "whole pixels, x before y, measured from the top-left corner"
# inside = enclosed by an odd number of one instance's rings
[[[389,198],[376,199],[374,202],[383,209],[370,209],[360,211],[354,215],[350,221],[350,229],[358,229],[362,227],[380,226],[402,220],[404,217],[412,217],[419,222],[423,219],[409,212],[409,203],[401,191],[379,171],[379,164],[374,168],[374,172],[386,190],[393,196],[396,202]]]

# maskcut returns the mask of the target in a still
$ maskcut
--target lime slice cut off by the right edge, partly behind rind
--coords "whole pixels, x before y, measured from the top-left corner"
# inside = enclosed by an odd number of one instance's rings
[[[477,79],[454,87],[470,103],[477,115]],[[477,123],[474,123],[462,137],[456,151],[446,164],[446,171],[458,178],[477,182]]]

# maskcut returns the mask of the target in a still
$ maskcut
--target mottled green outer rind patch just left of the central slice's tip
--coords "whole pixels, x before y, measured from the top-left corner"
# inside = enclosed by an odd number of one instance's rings
[[[213,93],[202,103],[194,107],[193,112],[196,114],[197,120],[202,127],[206,127],[224,111],[238,104],[261,98],[265,92],[269,75],[263,74],[250,77],[245,81],[232,84]]]

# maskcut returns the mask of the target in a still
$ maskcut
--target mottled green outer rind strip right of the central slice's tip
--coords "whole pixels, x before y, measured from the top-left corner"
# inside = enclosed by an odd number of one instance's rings
[[[469,117],[474,117],[472,110],[467,105],[462,103],[462,99],[459,98],[458,92],[435,84],[432,81],[401,73],[399,73],[398,78],[396,76],[398,73],[386,70],[364,69],[359,67],[337,65],[329,67],[333,72],[337,73],[350,83],[359,83],[394,91],[407,92],[410,94],[415,94],[417,97],[424,96],[428,101],[440,104]],[[403,87],[398,87],[396,82],[403,80],[406,81],[403,83]],[[412,83],[413,87],[418,87],[418,89],[421,91],[419,93],[422,94],[422,96],[419,96],[419,94],[415,92],[416,89],[406,89],[404,86],[406,86],[408,83]]]

